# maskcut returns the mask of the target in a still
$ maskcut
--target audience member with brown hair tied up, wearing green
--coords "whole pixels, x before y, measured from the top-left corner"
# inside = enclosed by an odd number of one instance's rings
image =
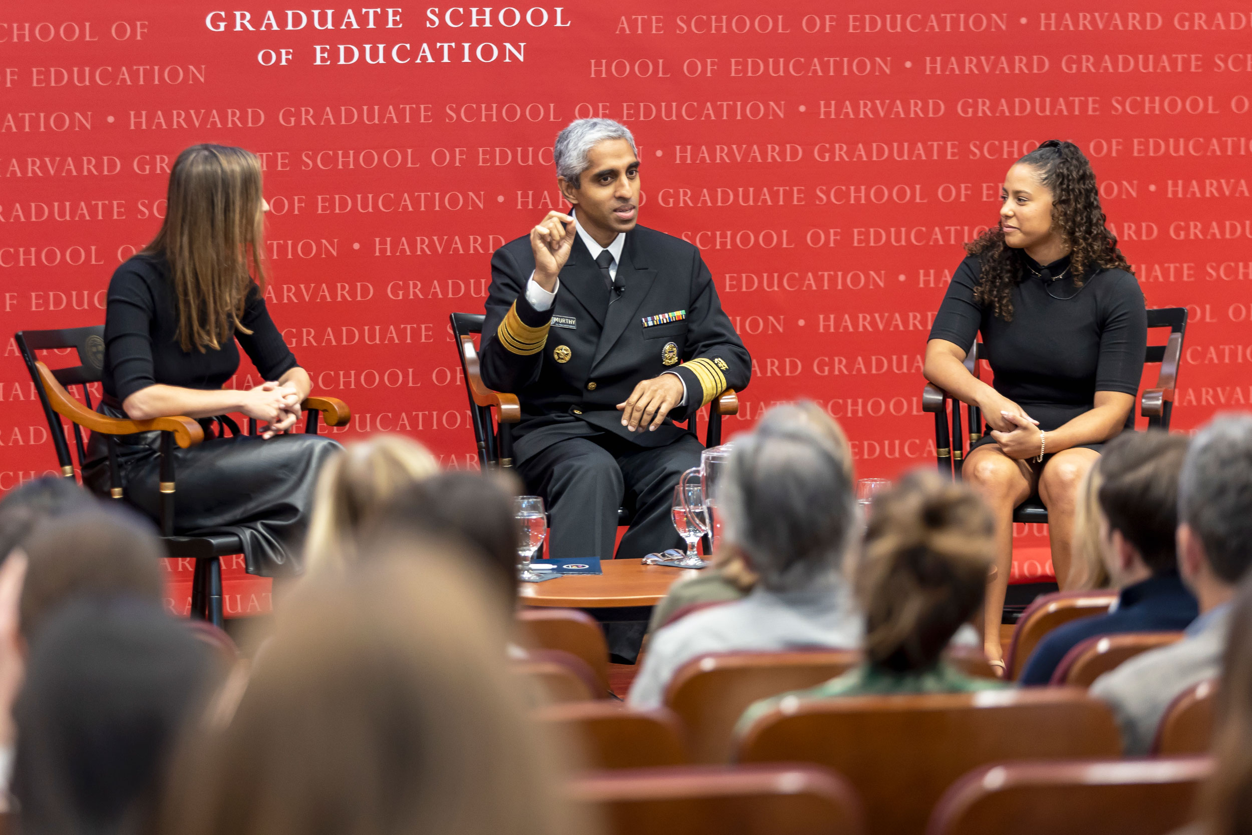
[[[952,636],[980,611],[992,535],[982,499],[934,472],[914,471],[880,493],[853,575],[865,612],[865,661],[816,687],[754,702],[736,735],[784,700],[1004,687],[943,658]]]

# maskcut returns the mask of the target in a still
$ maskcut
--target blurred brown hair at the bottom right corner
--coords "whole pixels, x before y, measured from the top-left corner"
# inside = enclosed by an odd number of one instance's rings
[[[1252,832],[1252,581],[1239,587],[1231,613],[1209,754],[1213,772],[1199,792],[1197,832]]]

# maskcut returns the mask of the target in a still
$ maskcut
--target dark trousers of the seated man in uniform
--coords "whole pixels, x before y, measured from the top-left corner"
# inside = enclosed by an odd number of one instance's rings
[[[543,496],[551,518],[548,553],[558,558],[613,556],[617,508],[635,511],[618,558],[684,548],[670,508],[685,469],[704,446],[687,433],[664,447],[639,447],[608,432],[566,438],[522,461],[527,489]]]

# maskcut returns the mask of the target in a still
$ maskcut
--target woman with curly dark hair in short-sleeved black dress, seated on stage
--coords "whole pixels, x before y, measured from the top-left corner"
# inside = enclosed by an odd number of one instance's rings
[[[925,376],[977,406],[990,433],[963,476],[997,520],[997,572],[984,648],[1002,657],[1000,617],[1013,548],[1013,508],[1038,493],[1048,507],[1052,562],[1069,581],[1078,484],[1101,448],[1134,423],[1143,374],[1143,293],[1104,228],[1090,163],[1048,140],[1008,172],[1000,223],[967,244],[926,343]],[[962,362],[982,333],[994,386]]]

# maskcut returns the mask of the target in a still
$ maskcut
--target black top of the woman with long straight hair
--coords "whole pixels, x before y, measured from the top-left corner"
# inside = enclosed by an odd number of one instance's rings
[[[298,366],[253,284],[240,323],[222,348],[183,351],[169,263],[135,255],[113,273],[104,319],[104,393],[124,402],[154,384],[219,389],[239,368],[239,346],[264,379],[278,379]]]

